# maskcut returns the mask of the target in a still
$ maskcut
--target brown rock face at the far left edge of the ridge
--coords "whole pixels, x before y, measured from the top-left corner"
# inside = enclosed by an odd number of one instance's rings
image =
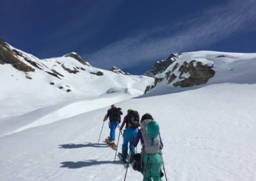
[[[13,51],[6,43],[5,41],[0,38],[0,64],[12,64],[13,68],[29,72],[29,71],[35,71],[35,69],[31,68],[24,62],[20,61],[17,56],[20,56],[20,52]]]

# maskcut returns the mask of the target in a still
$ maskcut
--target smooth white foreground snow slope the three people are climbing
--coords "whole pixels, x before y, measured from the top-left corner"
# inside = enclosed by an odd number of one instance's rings
[[[108,105],[111,103],[109,99]],[[87,104],[79,102],[79,106]],[[102,118],[109,107],[99,108],[96,103],[90,111],[77,114],[77,104],[65,105],[68,112],[52,108],[63,118],[58,122],[0,137],[0,180],[124,179],[124,166],[118,159],[114,162],[115,151],[102,142],[109,134],[106,124],[97,145]],[[193,91],[129,99],[117,106],[124,111],[133,108],[140,115],[152,113],[159,122],[168,180],[256,179],[255,84],[209,85]],[[45,115],[49,115],[47,110],[38,110],[28,117],[39,120]],[[121,147],[122,138],[118,152]],[[129,168],[127,180],[142,177]]]

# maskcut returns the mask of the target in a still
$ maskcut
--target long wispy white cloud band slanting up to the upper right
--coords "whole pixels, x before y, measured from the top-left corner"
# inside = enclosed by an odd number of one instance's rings
[[[230,1],[225,6],[175,20],[170,26],[144,31],[83,57],[99,68],[109,65],[127,68],[158,61],[172,52],[204,48],[236,33],[255,29],[255,7],[255,0]]]

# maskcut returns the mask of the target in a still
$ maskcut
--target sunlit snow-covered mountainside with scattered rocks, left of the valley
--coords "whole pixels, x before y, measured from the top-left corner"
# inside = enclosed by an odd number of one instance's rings
[[[114,73],[93,68],[72,52],[62,57],[38,59],[0,39],[0,117],[7,116],[10,107],[17,107],[15,113],[23,113],[31,107],[57,103],[66,99],[80,99],[103,94],[124,92],[127,98],[140,96],[153,78]],[[6,84],[7,83],[7,84]],[[37,95],[30,94],[38,92]],[[28,96],[30,95],[30,96]],[[17,102],[24,98],[28,105]],[[29,103],[30,102],[30,103]],[[4,113],[3,113],[4,112]]]

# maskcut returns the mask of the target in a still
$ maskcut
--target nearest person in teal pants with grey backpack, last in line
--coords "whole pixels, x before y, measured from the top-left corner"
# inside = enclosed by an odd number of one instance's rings
[[[162,180],[161,149],[163,141],[159,135],[159,125],[154,121],[152,115],[146,113],[141,117],[141,129],[136,134],[132,147],[137,147],[138,142],[142,143],[141,156],[143,157],[143,180]]]

